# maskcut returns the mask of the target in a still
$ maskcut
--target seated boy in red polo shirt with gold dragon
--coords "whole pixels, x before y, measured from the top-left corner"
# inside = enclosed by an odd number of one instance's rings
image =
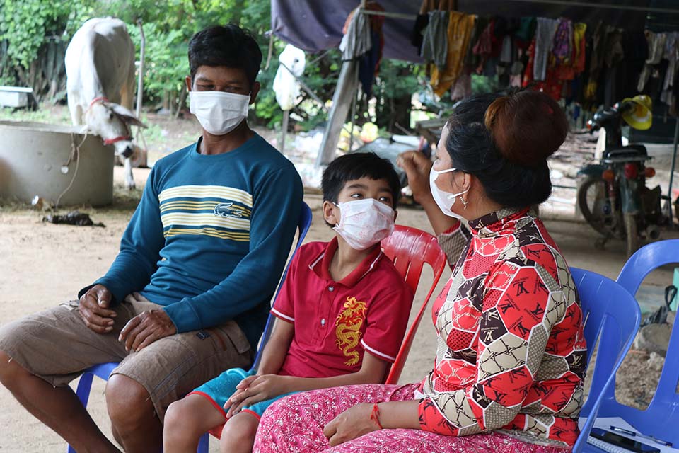
[[[332,161],[322,185],[323,217],[336,236],[301,246],[290,263],[257,374],[229,369],[171,404],[166,453],[195,452],[204,432],[227,421],[221,452],[251,452],[260,415],[277,399],[383,382],[413,298],[380,248],[393,231],[400,181],[389,161],[356,153]]]

